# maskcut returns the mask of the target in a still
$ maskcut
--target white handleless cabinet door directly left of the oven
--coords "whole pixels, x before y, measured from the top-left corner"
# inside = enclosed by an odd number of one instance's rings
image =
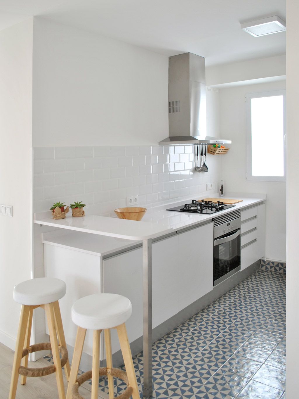
[[[213,289],[214,224],[179,234],[179,310]]]

